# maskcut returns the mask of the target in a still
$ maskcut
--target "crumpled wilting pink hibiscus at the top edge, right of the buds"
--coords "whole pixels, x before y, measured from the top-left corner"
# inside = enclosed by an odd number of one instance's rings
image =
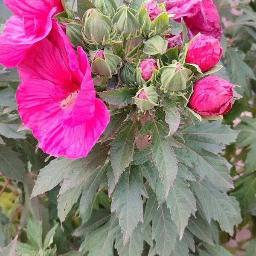
[[[220,17],[212,0],[167,0],[166,10],[177,22],[183,17],[190,39],[200,32],[221,40]]]

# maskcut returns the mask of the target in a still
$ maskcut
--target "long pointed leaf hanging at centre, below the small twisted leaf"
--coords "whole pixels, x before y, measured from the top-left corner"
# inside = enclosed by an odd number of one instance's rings
[[[166,137],[169,133],[168,126],[161,120],[152,120],[145,123],[140,130],[140,135],[151,131],[153,140],[153,159],[157,166],[160,179],[164,185],[165,195],[167,197],[177,175],[178,165],[175,153],[171,146],[171,140]]]

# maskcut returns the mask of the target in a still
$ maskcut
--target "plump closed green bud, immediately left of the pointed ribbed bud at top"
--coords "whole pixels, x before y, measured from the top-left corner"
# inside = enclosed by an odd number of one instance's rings
[[[97,9],[89,9],[84,17],[84,40],[88,44],[105,45],[111,39],[113,23]]]

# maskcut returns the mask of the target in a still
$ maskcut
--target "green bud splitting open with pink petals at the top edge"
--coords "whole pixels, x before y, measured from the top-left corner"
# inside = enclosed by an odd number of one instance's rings
[[[156,0],[151,0],[140,9],[138,20],[145,38],[165,35],[169,30],[169,18],[165,6],[160,7]]]

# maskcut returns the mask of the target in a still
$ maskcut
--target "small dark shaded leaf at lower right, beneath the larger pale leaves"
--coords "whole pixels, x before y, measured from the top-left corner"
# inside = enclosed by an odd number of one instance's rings
[[[209,224],[202,218],[189,218],[187,229],[202,241],[213,245],[212,232]]]

